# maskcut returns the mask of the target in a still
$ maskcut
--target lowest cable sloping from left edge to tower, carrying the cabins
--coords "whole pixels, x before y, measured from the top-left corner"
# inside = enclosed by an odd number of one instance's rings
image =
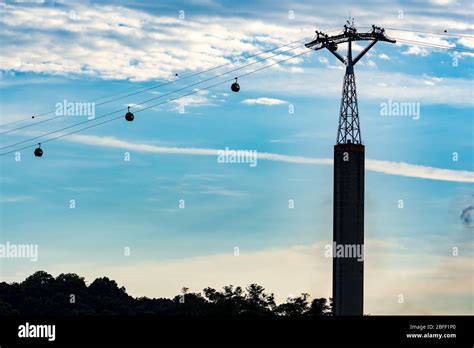
[[[288,61],[288,60],[290,60],[290,59],[294,59],[294,58],[300,57],[300,56],[302,56],[302,55],[304,55],[304,54],[308,54],[308,53],[310,53],[310,52],[311,52],[311,50],[307,50],[307,51],[305,51],[305,52],[295,54],[295,55],[290,56],[290,57],[288,57],[288,58],[279,60],[279,61],[274,62],[274,63],[271,63],[271,64],[269,64],[269,65],[265,65],[265,66],[263,66],[263,67],[261,67],[261,68],[252,70],[252,71],[250,71],[250,72],[248,72],[248,73],[242,74],[242,75],[239,76],[239,78],[252,75],[252,74],[257,73],[257,72],[259,72],[259,71],[261,71],[261,70],[270,68],[270,67],[272,67],[272,66],[274,66],[274,65],[277,65],[277,64],[284,63],[284,62],[286,62],[286,61]],[[187,93],[187,94],[183,94],[183,95],[180,95],[180,96],[178,96],[178,97],[165,100],[165,101],[160,102],[160,103],[158,103],[158,104],[154,104],[154,105],[147,106],[147,107],[145,107],[145,108],[142,108],[142,109],[140,109],[140,110],[137,110],[136,113],[139,113],[139,112],[142,112],[142,111],[145,111],[145,110],[148,110],[148,109],[157,107],[157,106],[159,106],[159,105],[163,105],[163,104],[172,102],[172,101],[174,101],[174,100],[179,100],[179,99],[181,99],[181,98],[184,98],[184,97],[187,97],[187,96],[190,96],[190,95],[199,93],[199,92],[201,92],[201,91],[205,91],[205,90],[211,89],[211,88],[213,88],[213,87],[222,85],[222,84],[224,84],[224,83],[229,83],[229,82],[234,81],[234,80],[235,80],[235,78],[232,78],[232,79],[228,79],[228,80],[225,80],[225,81],[218,82],[218,83],[216,83],[216,84],[213,84],[213,85],[210,85],[210,86],[207,86],[207,87],[203,87],[203,88],[198,89],[198,90],[194,90],[194,91],[189,92],[189,93]],[[111,119],[102,121],[102,122],[100,122],[100,123],[92,124],[92,125],[89,125],[89,126],[87,126],[87,127],[83,127],[83,128],[80,128],[80,129],[73,130],[73,131],[71,131],[71,132],[69,132],[69,133],[60,134],[60,135],[58,135],[58,136],[56,136],[56,137],[49,138],[49,139],[46,139],[46,140],[42,141],[41,144],[45,144],[45,143],[48,143],[48,142],[51,142],[51,141],[54,141],[54,140],[57,140],[57,139],[61,139],[61,138],[64,138],[64,137],[66,137],[66,136],[69,136],[69,135],[72,135],[72,134],[75,134],[75,133],[79,133],[79,132],[82,132],[82,131],[84,131],[84,130],[91,129],[91,128],[94,128],[94,127],[97,127],[97,126],[100,126],[100,125],[103,125],[103,124],[106,124],[106,123],[109,123],[109,122],[118,120],[118,119],[122,119],[122,117],[123,117],[123,116],[114,117],[114,118],[111,118]],[[79,124],[77,124],[77,125],[79,125]],[[76,125],[76,126],[77,126],[77,125]],[[71,128],[71,127],[68,127],[68,128]],[[64,130],[64,129],[63,129],[63,130]],[[29,139],[29,140],[27,140],[27,141],[32,141],[32,140],[34,140],[34,139],[38,139],[38,138],[40,138],[40,137],[45,137],[45,136],[48,136],[48,135],[50,135],[50,134],[54,134],[54,133],[57,133],[57,132],[60,132],[60,131],[62,131],[62,130],[58,130],[58,131],[51,132],[51,133],[48,133],[48,134],[43,134],[43,135],[41,135],[41,136],[39,136],[39,137],[31,138],[31,139]],[[25,142],[27,142],[27,141],[25,141]],[[14,153],[14,152],[17,152],[17,151],[21,151],[21,150],[24,150],[24,149],[31,148],[31,147],[33,147],[33,146],[36,146],[36,144],[30,144],[30,145],[27,145],[27,146],[24,146],[24,147],[21,147],[21,148],[18,148],[18,149],[14,149],[14,150],[10,150],[10,151],[7,151],[7,152],[3,152],[3,153],[0,153],[0,156],[5,156],[5,155],[10,154],[10,153]]]

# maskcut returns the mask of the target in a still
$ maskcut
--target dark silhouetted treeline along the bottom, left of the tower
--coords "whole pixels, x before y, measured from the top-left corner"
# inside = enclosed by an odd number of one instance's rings
[[[307,316],[330,315],[325,298],[309,301],[308,294],[288,298],[277,305],[273,294],[251,284],[245,289],[225,286],[222,291],[206,288],[173,299],[134,298],[109,278],[97,278],[87,285],[74,273],[56,278],[38,271],[21,283],[0,283],[2,316]]]

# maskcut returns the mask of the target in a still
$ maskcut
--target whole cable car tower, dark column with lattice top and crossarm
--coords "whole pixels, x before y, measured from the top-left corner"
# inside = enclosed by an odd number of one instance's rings
[[[352,55],[354,41],[370,41],[355,58]],[[326,48],[346,66],[334,146],[333,192],[333,246],[344,251],[363,250],[364,245],[365,147],[360,132],[354,66],[378,41],[395,43],[385,35],[384,29],[374,25],[372,31],[358,33],[352,20],[344,25],[343,33],[328,36],[316,31],[316,38],[305,45],[315,51]],[[347,43],[346,57],[337,52],[342,43]],[[333,252],[336,248],[333,247]],[[363,315],[364,262],[359,256],[352,253],[340,257],[333,253],[335,315]]]

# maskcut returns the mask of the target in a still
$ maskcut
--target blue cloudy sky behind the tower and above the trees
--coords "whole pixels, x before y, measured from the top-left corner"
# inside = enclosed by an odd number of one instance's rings
[[[108,276],[133,296],[253,282],[278,302],[331,296],[344,66],[303,44],[354,18],[474,49],[473,13],[458,0],[3,1],[0,124],[16,123],[0,133],[33,126],[0,135],[0,243],[39,254],[0,259],[1,280],[45,270]],[[445,30],[456,36],[433,34]],[[473,57],[379,42],[355,68],[367,314],[473,314]],[[56,117],[67,102],[95,103],[95,118]],[[413,109],[382,112],[401,103]],[[256,151],[256,165],[220,163],[226,148]]]

